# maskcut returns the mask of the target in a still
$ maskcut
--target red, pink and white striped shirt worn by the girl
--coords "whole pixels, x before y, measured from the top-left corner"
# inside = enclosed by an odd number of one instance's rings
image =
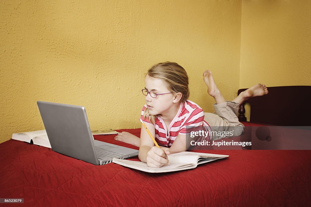
[[[144,111],[147,105],[142,108],[141,119],[149,123],[149,120],[143,118]],[[169,125],[169,129],[166,129],[164,120],[160,115],[156,115],[155,124],[155,139],[156,142],[164,147],[170,147],[178,134],[189,134],[192,127],[206,127],[210,130],[210,126],[204,121],[204,112],[200,106],[196,103],[186,100],[179,106],[179,111],[175,118]],[[208,141],[210,137],[207,137]]]

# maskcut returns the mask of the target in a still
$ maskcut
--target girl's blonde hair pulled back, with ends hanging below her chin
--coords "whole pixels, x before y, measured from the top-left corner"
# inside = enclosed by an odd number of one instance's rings
[[[146,76],[161,79],[166,83],[167,88],[173,94],[181,93],[182,97],[179,101],[184,102],[189,97],[189,81],[187,72],[177,63],[165,62],[153,65],[147,72]],[[156,115],[151,115],[148,108],[145,109],[143,118],[155,123]]]

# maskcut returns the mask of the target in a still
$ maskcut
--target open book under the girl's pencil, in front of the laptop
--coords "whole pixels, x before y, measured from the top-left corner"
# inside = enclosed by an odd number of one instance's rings
[[[196,152],[180,152],[168,155],[169,165],[156,168],[149,167],[145,162],[122,160],[113,158],[112,162],[130,167],[144,172],[173,172],[179,170],[187,170],[197,167],[197,165],[229,157],[229,155],[196,153]]]

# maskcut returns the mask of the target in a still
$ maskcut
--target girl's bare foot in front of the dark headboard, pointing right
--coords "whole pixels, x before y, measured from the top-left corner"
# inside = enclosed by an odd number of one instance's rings
[[[241,104],[244,101],[248,100],[249,98],[267,95],[268,93],[269,93],[268,88],[262,83],[258,83],[248,88],[246,91],[241,92],[239,96],[236,97],[233,101]]]

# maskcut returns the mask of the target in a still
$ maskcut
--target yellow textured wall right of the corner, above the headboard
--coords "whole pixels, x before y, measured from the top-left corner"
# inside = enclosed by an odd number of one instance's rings
[[[311,1],[245,0],[241,13],[240,88],[310,86]]]

